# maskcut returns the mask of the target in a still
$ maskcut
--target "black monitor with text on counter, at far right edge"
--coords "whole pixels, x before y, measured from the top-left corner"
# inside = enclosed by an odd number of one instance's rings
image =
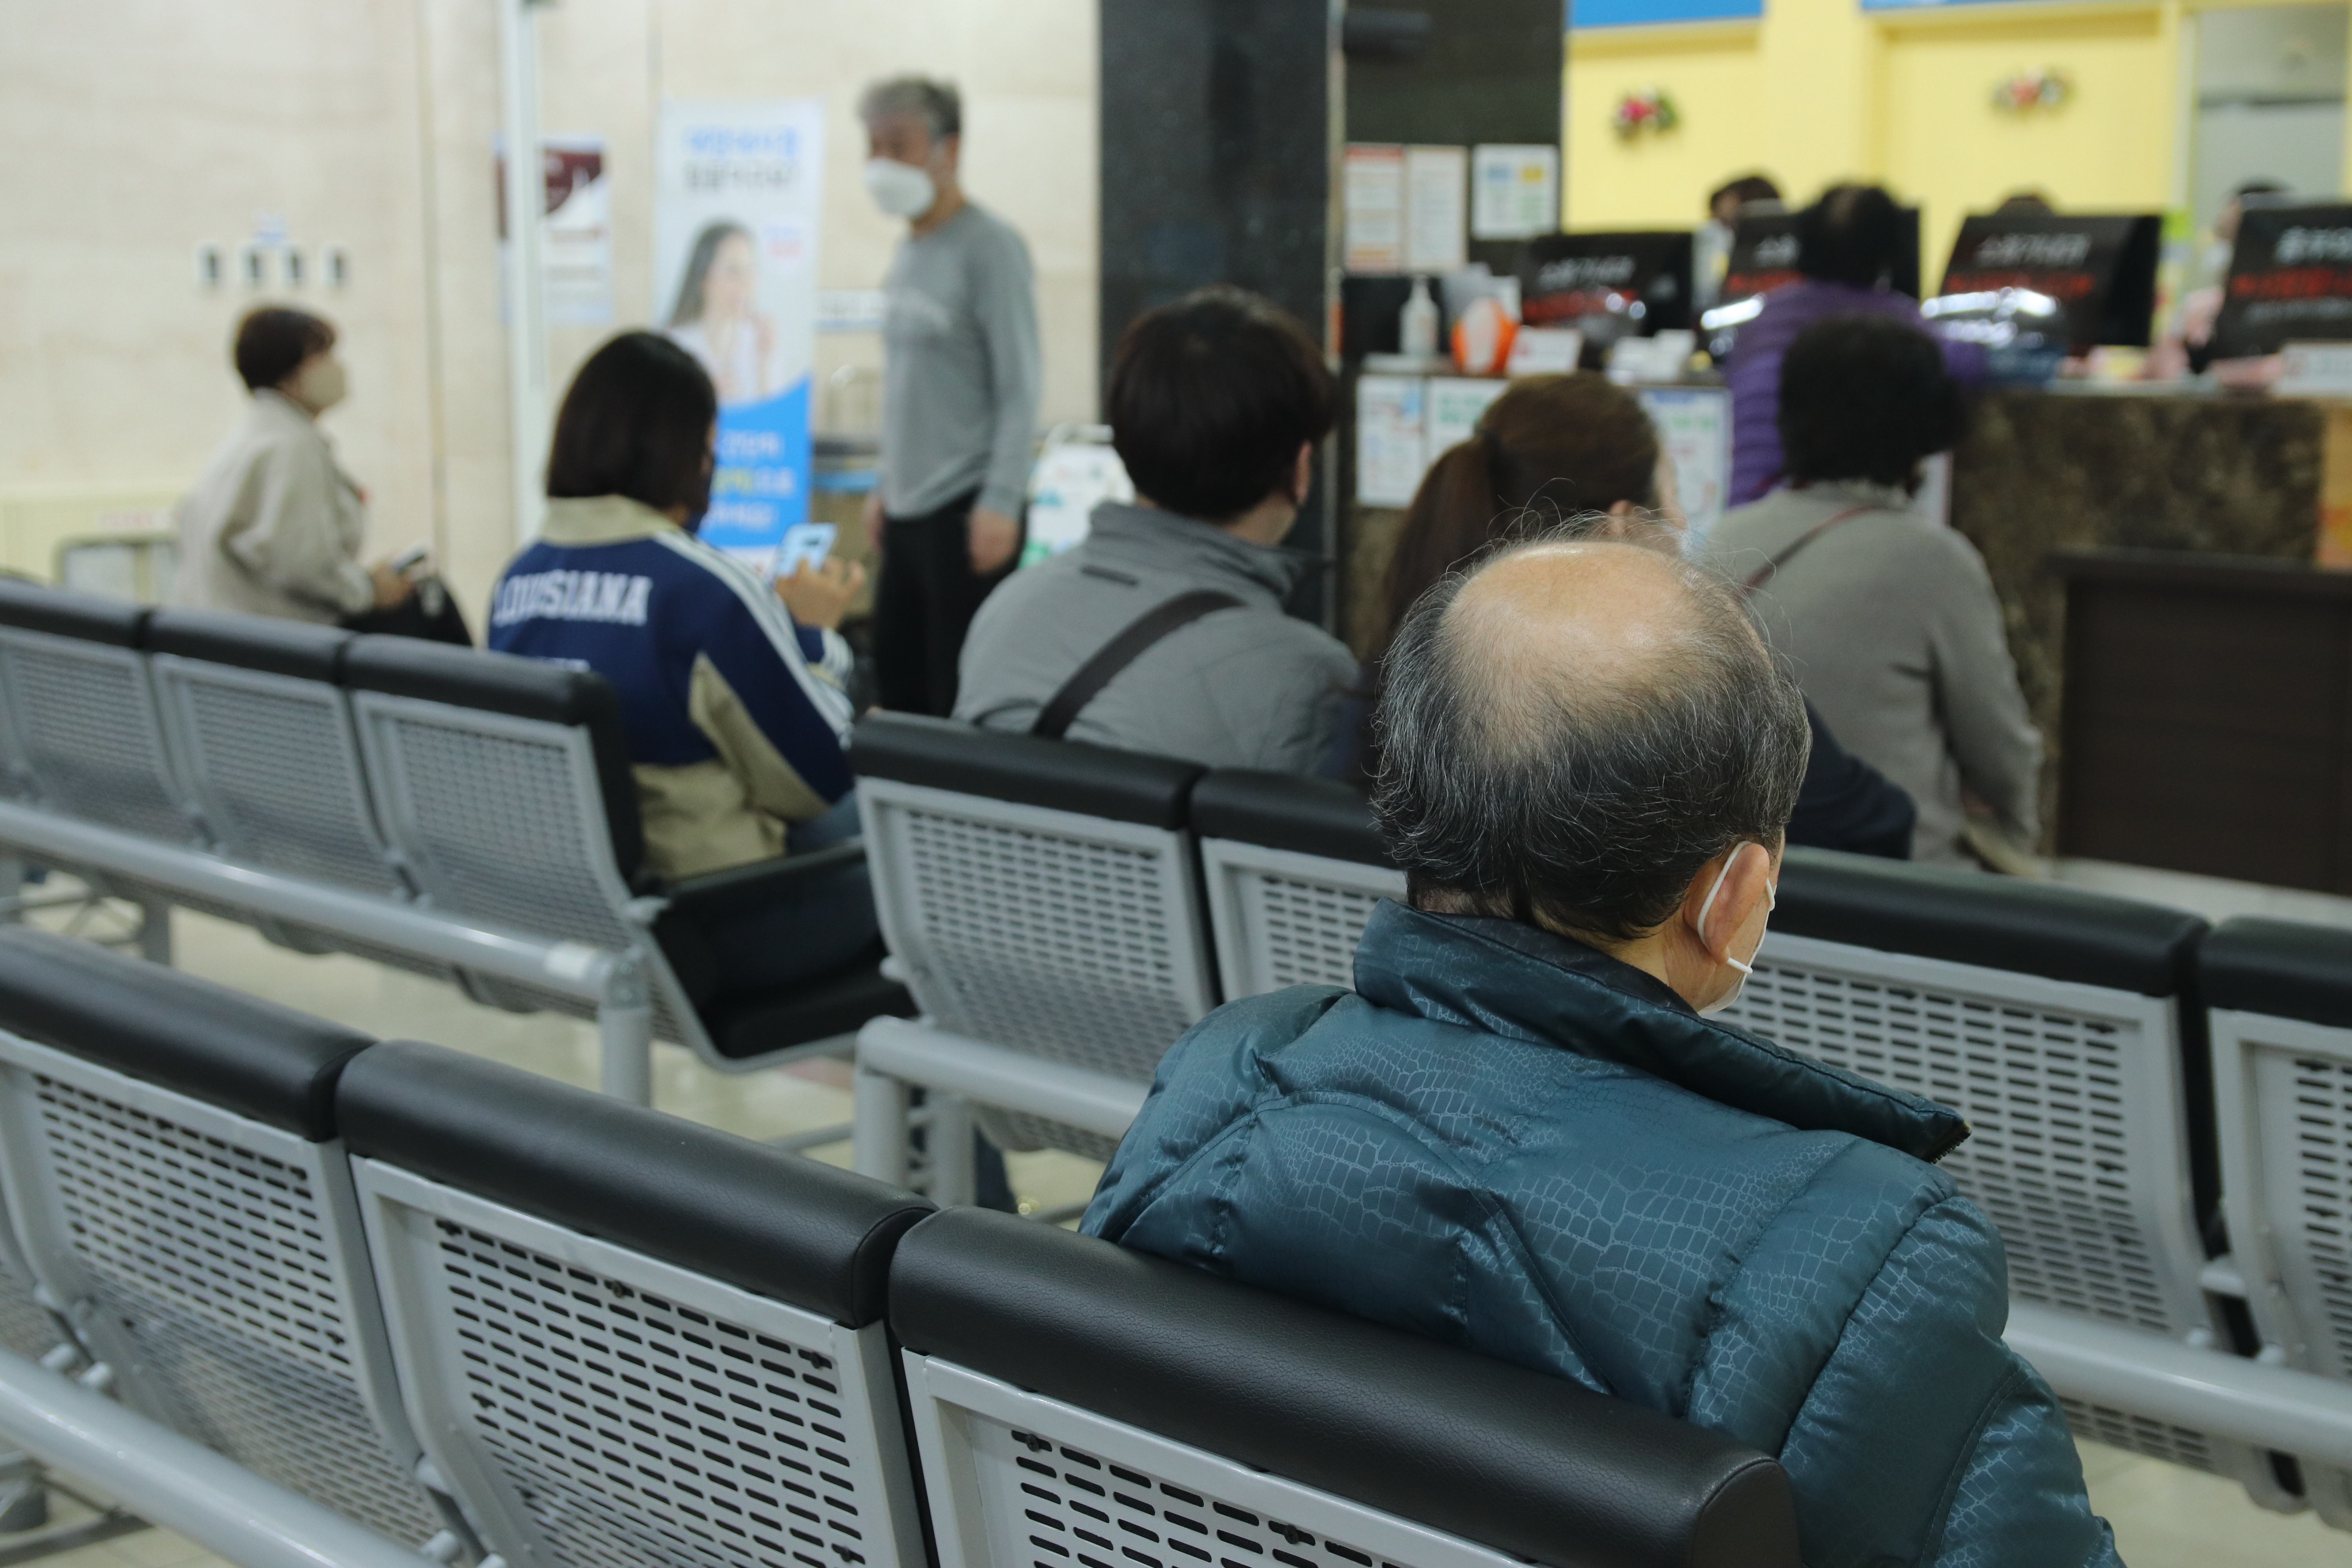
[[[2213,357],[2352,339],[2352,202],[2246,200],[2213,322]]]

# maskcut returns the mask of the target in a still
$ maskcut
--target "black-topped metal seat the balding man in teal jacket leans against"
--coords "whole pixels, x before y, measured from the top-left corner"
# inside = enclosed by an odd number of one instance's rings
[[[941,1568],[1795,1568],[1780,1465],[1576,1385],[981,1208],[898,1244]]]

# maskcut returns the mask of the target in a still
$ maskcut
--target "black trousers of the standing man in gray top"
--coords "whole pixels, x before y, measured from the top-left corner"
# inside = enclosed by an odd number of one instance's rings
[[[971,503],[957,496],[922,517],[882,524],[882,581],[875,585],[875,703],[891,712],[955,712],[955,661],[981,599],[1002,583],[1021,552],[988,576],[971,571]]]

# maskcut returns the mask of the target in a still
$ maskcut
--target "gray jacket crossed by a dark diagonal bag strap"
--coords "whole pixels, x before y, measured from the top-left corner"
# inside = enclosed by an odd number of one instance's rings
[[[1240,599],[1143,651],[1070,724],[1070,741],[1225,769],[1312,773],[1355,658],[1282,614],[1312,562],[1143,505],[1103,503],[1084,543],[1016,571],[964,639],[955,717],[1028,731],[1096,649],[1181,592]]]

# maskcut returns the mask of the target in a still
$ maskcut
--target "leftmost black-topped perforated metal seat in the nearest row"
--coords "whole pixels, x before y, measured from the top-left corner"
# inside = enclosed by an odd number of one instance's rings
[[[334,1128],[367,1044],[0,931],[0,1154],[47,1298],[148,1420],[423,1547],[456,1514],[419,1479]]]

